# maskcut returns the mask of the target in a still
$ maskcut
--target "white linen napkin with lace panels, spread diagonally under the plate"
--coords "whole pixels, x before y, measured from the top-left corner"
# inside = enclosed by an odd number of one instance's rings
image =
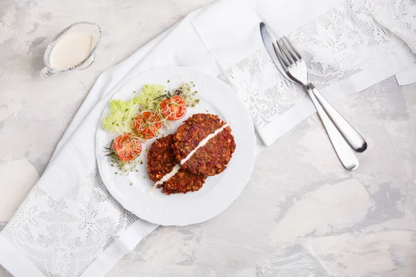
[[[157,227],[109,195],[94,154],[101,111],[142,71],[175,65],[216,75],[245,102],[261,150],[314,110],[306,93],[272,64],[259,21],[276,37],[292,40],[309,64],[311,81],[331,102],[416,62],[414,1],[311,2],[220,0],[105,71],[44,175],[0,233],[0,264],[15,276],[103,276]]]

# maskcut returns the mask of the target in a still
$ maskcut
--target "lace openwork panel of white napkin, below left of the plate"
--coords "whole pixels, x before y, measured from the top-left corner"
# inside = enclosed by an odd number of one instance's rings
[[[137,220],[96,168],[58,200],[35,186],[2,233],[45,276],[80,276]]]

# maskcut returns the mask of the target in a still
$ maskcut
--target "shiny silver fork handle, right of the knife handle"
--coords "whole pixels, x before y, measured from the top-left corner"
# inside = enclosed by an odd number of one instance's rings
[[[311,89],[313,95],[318,99],[320,105],[322,105],[329,118],[331,118],[333,124],[336,125],[351,148],[356,152],[364,152],[367,149],[367,143],[365,142],[363,136],[361,136],[361,134],[358,133],[358,131],[354,129],[354,127],[352,127],[352,125],[349,124],[349,122],[341,116],[331,104],[329,104],[327,99],[322,96],[313,84],[309,84],[308,87]]]

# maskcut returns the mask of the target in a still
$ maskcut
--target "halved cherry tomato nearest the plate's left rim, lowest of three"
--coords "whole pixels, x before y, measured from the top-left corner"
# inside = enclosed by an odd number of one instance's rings
[[[131,161],[139,156],[141,152],[141,143],[139,138],[134,134],[125,133],[116,137],[113,148],[121,161]]]

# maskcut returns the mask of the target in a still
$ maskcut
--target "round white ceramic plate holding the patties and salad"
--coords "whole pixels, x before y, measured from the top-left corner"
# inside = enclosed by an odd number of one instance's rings
[[[171,80],[167,82],[167,80]],[[143,165],[138,172],[126,176],[114,174],[116,168],[110,166],[110,158],[105,156],[105,148],[116,137],[101,127],[103,118],[110,114],[107,107],[101,116],[96,133],[96,158],[101,178],[105,186],[117,201],[128,211],[148,222],[161,225],[184,226],[196,224],[220,214],[236,199],[248,182],[254,165],[255,136],[252,120],[243,103],[226,84],[207,73],[187,67],[164,67],[141,73],[117,91],[112,99],[128,100],[141,90],[144,84],[164,84],[176,88],[181,82],[196,84],[200,104],[189,108],[183,120],[173,123],[170,132],[175,133],[184,120],[198,113],[217,114],[232,127],[236,142],[234,152],[227,169],[214,177],[208,177],[204,186],[193,193],[165,195],[161,190],[149,192],[153,186],[147,175],[146,151],[155,139],[144,144],[141,153]],[[151,191],[151,190],[150,190]]]

